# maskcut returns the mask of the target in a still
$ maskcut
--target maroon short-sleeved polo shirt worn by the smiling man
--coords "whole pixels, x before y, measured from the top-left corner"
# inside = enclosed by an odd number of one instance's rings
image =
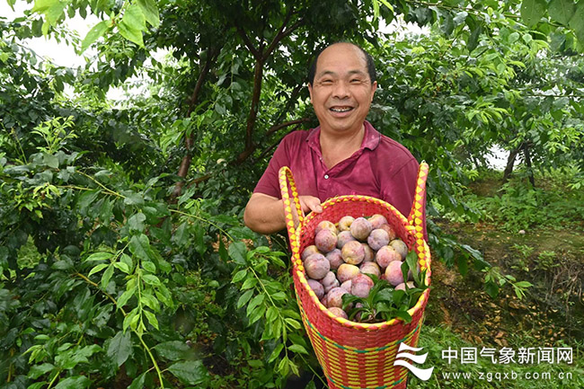
[[[408,149],[365,121],[361,147],[329,169],[323,164],[320,133],[317,127],[284,137],[253,192],[281,199],[278,172],[288,166],[301,196],[314,196],[321,202],[341,195],[372,196],[384,199],[408,217],[419,167]]]

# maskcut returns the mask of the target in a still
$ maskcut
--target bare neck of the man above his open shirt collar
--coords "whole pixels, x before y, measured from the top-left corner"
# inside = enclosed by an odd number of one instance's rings
[[[330,169],[349,158],[361,147],[363,137],[365,137],[365,124],[362,124],[358,130],[341,134],[323,131],[321,128],[320,144],[324,165]]]

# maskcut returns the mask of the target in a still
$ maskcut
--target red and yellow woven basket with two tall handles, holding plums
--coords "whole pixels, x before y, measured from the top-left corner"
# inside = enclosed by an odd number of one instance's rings
[[[351,322],[333,315],[314,295],[306,282],[300,253],[306,246],[314,244],[314,228],[323,220],[337,223],[346,215],[368,217],[381,214],[394,227],[398,237],[408,245],[408,248],[418,253],[420,269],[427,270],[426,283],[429,285],[430,254],[429,246],[424,241],[421,220],[428,169],[428,164],[420,164],[415,200],[408,218],[381,199],[355,195],[328,199],[323,203],[322,213],[312,212],[303,217],[292,172],[286,166],[279,171],[279,184],[292,250],[292,275],[296,299],[316,358],[323,367],[324,376],[332,389],[406,387],[408,372],[405,367],[394,367],[394,360],[401,342],[411,347],[418,344],[429,288],[408,311],[411,314],[411,323],[403,323],[401,319],[384,323]],[[291,198],[288,184],[292,192]],[[296,228],[293,211],[300,221]]]

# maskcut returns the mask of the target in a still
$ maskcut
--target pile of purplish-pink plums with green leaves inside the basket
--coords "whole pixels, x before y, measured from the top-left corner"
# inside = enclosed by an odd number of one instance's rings
[[[337,225],[324,220],[316,226],[314,244],[302,252],[302,261],[308,285],[333,314],[354,321],[375,322],[376,307],[369,310],[363,307],[367,301],[378,305],[379,298],[366,300],[370,293],[389,296],[385,300],[394,299],[403,305],[396,308],[403,316],[423,288],[416,260],[408,261],[409,267],[405,263],[408,254],[408,246],[396,236],[383,215],[345,216]],[[417,258],[415,252],[410,254]],[[405,293],[395,298],[392,293],[396,290]],[[404,298],[404,295],[414,298]]]

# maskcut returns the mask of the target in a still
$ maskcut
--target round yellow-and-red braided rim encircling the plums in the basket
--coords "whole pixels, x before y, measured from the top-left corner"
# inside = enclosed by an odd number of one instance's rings
[[[381,205],[385,208],[388,208],[390,211],[394,212],[395,216],[397,216],[403,222],[403,225],[405,226],[407,231],[411,232],[411,234],[413,234],[414,236],[416,236],[416,234],[417,234],[416,229],[414,228],[413,225],[410,224],[408,219],[406,217],[404,217],[403,214],[397,210],[397,208],[395,208],[393,205],[389,204],[388,202],[386,202],[382,199],[377,199],[377,198],[374,198],[371,196],[365,196],[365,195],[343,195],[343,196],[336,196],[336,197],[331,198],[331,199],[326,199],[323,202],[322,207],[323,207],[323,209],[325,209],[325,208],[331,207],[333,204],[336,204],[337,202],[341,202],[341,201],[366,201],[366,202],[378,204],[378,205]],[[315,214],[314,212],[311,212],[310,214],[308,214],[308,216],[306,216],[304,219],[303,225],[310,222],[317,215],[319,215],[319,214]],[[304,265],[302,263],[302,260],[300,259],[300,252],[299,252],[300,251],[300,241],[299,241],[299,236],[297,234],[301,230],[301,227],[302,227],[302,225],[298,225],[298,227],[296,227],[296,234],[295,234],[296,235],[296,242],[294,244],[292,244],[293,257],[296,258],[296,261],[292,261],[292,268],[293,268],[293,271],[296,272],[296,276],[298,277],[298,280],[300,281],[300,285],[305,288],[305,290],[308,292],[308,295],[312,298],[314,304],[316,304],[316,306],[321,310],[321,312],[323,312],[324,314],[327,314],[330,318],[335,320],[337,323],[340,323],[342,326],[347,327],[347,328],[351,328],[351,329],[356,328],[356,329],[362,329],[362,330],[367,330],[367,331],[378,331],[378,330],[385,329],[387,327],[391,327],[391,326],[393,326],[397,323],[400,323],[400,322],[403,323],[402,318],[393,318],[391,320],[388,320],[385,322],[380,322],[380,323],[358,323],[358,322],[350,321],[348,319],[344,319],[341,316],[337,316],[335,314],[332,314],[332,312],[326,306],[324,306],[323,303],[321,303],[321,301],[318,299],[318,297],[314,294],[313,289],[308,285],[308,281],[305,277]],[[427,270],[425,281],[426,281],[426,285],[428,285],[428,288],[426,288],[426,290],[424,290],[424,292],[422,292],[422,294],[418,298],[418,301],[416,302],[416,304],[413,305],[408,310],[408,314],[410,314],[411,316],[416,314],[416,312],[422,308],[424,301],[428,300],[429,290],[430,290],[431,258],[430,258],[430,252],[429,252],[429,245],[426,242],[426,240],[423,239],[423,237],[421,239],[417,239],[418,243],[420,243],[420,241],[423,245],[423,258],[419,258],[418,263],[420,264],[421,270]],[[422,261],[424,262],[423,264],[420,263]]]

